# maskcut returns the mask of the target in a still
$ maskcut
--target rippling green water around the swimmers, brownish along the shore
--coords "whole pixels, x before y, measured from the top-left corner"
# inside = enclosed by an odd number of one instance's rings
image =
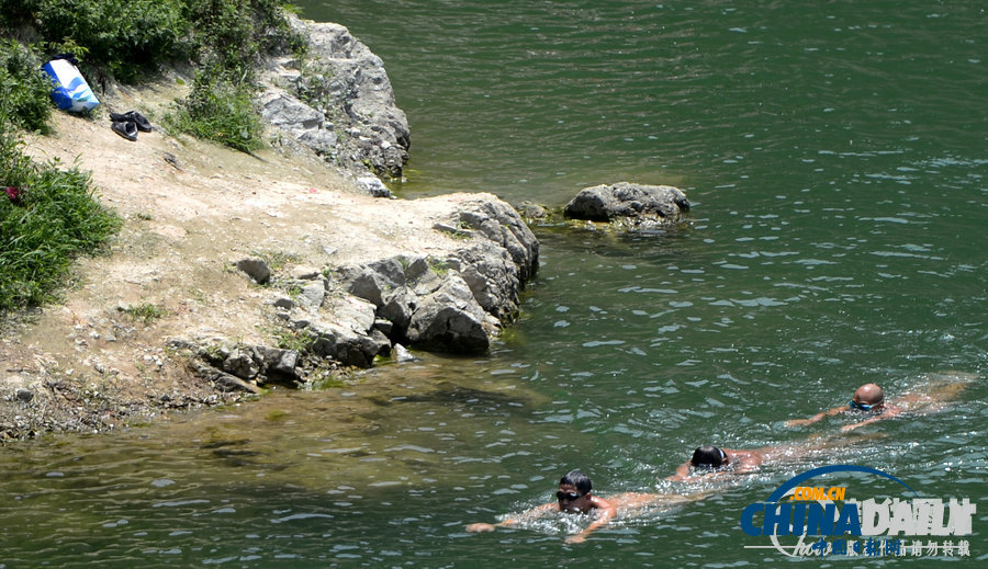
[[[483,357],[420,354],[340,388],[7,446],[0,567],[774,566],[778,551],[745,548],[768,540],[743,534],[742,510],[831,464],[969,498],[975,534],[953,562],[984,565],[984,10],[448,4],[301,2],[383,58],[413,133],[398,193],[559,206],[596,183],[672,183],[692,226],[535,227],[540,273]],[[849,417],[784,426],[864,382],[891,399],[966,388],[852,433]],[[662,480],[706,443],[823,451]],[[585,521],[463,531],[549,501],[574,467],[603,496],[709,494],[573,546]],[[847,561],[875,562],[916,561]]]

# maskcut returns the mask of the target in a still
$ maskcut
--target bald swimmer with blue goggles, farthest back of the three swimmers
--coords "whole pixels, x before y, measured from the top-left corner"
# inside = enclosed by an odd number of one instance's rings
[[[871,413],[871,417],[863,421],[841,428],[842,431],[853,431],[860,426],[882,421],[883,419],[891,419],[905,412],[931,413],[946,407],[948,401],[956,398],[969,383],[969,380],[964,380],[928,385],[927,387],[929,387],[929,389],[927,392],[906,392],[891,402],[885,400],[885,392],[879,386],[875,384],[865,384],[854,391],[851,401],[846,406],[834,407],[833,409],[819,412],[809,419],[793,419],[786,421],[786,426],[812,424],[824,417],[840,413]]]

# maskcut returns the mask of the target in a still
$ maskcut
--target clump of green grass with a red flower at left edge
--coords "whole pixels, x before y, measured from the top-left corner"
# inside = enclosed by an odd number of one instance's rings
[[[71,260],[96,252],[120,218],[92,196],[89,173],[38,164],[25,156],[0,103],[0,311],[41,304],[65,280]]]

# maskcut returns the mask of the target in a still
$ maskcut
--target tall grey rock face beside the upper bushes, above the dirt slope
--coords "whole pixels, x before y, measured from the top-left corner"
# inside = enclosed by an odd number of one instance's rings
[[[411,136],[381,58],[343,25],[290,21],[308,48],[302,57],[268,61],[262,116],[284,145],[310,148],[352,172],[373,195],[390,195],[373,175],[402,177]]]

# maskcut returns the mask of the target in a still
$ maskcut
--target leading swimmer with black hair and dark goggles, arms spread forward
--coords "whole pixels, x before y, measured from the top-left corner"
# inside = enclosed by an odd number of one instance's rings
[[[564,512],[570,514],[590,514],[593,513],[594,521],[579,534],[571,535],[566,538],[569,544],[579,544],[586,540],[586,536],[593,531],[607,525],[611,520],[617,517],[619,511],[630,509],[643,509],[650,505],[669,505],[671,503],[686,502],[698,499],[701,494],[694,497],[678,494],[649,494],[626,492],[603,499],[591,493],[593,485],[590,477],[580,470],[571,470],[559,481],[559,489],[555,492],[555,502],[532,508],[516,516],[506,517],[496,524],[476,523],[467,526],[468,532],[493,532],[498,527],[510,527],[526,520],[541,517],[552,512]]]

